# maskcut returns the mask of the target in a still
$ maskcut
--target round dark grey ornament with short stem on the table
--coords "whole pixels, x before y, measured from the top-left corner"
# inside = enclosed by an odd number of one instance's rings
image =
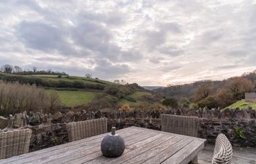
[[[105,157],[119,157],[124,152],[124,139],[116,134],[116,128],[111,129],[111,134],[108,134],[102,139],[101,150]]]

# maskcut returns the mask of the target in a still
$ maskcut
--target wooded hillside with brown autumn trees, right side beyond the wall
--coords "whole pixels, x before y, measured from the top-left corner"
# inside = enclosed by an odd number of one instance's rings
[[[243,74],[241,77],[232,77],[223,81],[205,80],[189,85],[169,86],[165,106],[173,108],[225,108],[245,98],[245,93],[255,92],[256,71]],[[187,96],[186,92],[187,91]],[[166,94],[166,93],[165,93]],[[171,96],[170,96],[171,95]]]

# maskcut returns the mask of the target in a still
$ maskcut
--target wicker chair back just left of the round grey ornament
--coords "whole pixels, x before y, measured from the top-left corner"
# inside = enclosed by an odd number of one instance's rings
[[[108,132],[108,119],[99,118],[67,124],[69,141],[76,141],[83,138],[97,136]]]

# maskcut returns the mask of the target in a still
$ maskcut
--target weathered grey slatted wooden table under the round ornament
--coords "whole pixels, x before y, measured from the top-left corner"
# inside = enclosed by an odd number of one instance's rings
[[[117,130],[126,149],[121,157],[103,157],[100,143],[106,134],[61,144],[0,160],[0,163],[189,163],[204,147],[205,139],[181,136],[146,128]]]

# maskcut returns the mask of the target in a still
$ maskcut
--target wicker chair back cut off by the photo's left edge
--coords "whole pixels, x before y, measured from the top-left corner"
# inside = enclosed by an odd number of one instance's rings
[[[12,130],[0,133],[0,159],[29,152],[32,130]]]

